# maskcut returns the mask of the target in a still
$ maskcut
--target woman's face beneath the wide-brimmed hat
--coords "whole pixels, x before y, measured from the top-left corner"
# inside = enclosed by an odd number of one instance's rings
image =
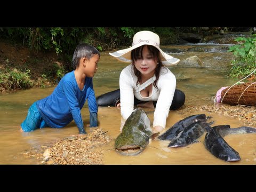
[[[140,71],[142,76],[154,76],[157,58],[154,58],[148,50],[148,46],[143,47],[142,58],[134,61],[134,66]]]

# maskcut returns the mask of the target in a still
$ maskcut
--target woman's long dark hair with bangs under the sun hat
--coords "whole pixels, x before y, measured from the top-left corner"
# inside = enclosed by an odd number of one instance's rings
[[[135,76],[138,77],[138,80],[137,80],[137,82],[136,82],[136,85],[138,85],[139,82],[141,81],[141,74],[140,74],[140,71],[139,71],[136,67],[134,67],[134,61],[143,58],[143,57],[142,57],[142,51],[143,51],[143,48],[144,48],[145,46],[148,46],[148,51],[149,51],[150,54],[153,55],[153,58],[154,58],[154,59],[157,58],[157,63],[158,63],[158,64],[156,65],[156,70],[155,70],[156,79],[155,79],[153,85],[154,85],[154,86],[156,87],[156,89],[158,90],[158,87],[157,87],[156,83],[157,83],[158,78],[159,78],[159,75],[160,75],[160,70],[161,70],[161,68],[164,67],[164,66],[163,66],[163,63],[162,63],[161,60],[160,60],[160,55],[159,55],[160,52],[159,52],[159,50],[156,49],[156,47],[151,46],[151,45],[142,45],[142,46],[140,46],[140,47],[138,47],[138,48],[132,50],[132,52],[131,52],[131,58],[132,58],[132,64],[133,64],[134,74],[135,74]]]

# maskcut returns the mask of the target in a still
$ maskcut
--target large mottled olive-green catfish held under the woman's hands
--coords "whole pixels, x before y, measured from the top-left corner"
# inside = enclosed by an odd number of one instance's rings
[[[122,132],[117,136],[115,150],[121,155],[138,155],[146,148],[153,135],[147,114],[137,108],[126,119]]]

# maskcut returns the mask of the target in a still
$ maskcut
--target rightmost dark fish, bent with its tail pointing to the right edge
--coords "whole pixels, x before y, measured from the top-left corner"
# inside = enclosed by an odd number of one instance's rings
[[[230,128],[230,125],[218,125],[212,129],[206,129],[204,145],[215,157],[224,161],[240,161],[239,153],[223,139],[228,134],[256,133],[253,127],[241,126]]]

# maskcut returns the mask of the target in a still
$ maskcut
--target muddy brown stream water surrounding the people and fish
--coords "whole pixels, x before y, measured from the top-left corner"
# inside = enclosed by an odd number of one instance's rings
[[[186,53],[180,54],[185,58]],[[189,53],[191,54],[191,53]],[[216,53],[214,53],[216,54]],[[222,54],[222,53],[221,53]],[[118,89],[118,78],[121,70],[127,65],[110,57],[108,53],[101,54],[99,70],[94,76],[94,90],[96,95]],[[211,57],[209,53],[197,53],[201,58]],[[174,55],[173,55],[174,56]],[[178,54],[174,57],[178,57]],[[212,98],[221,86],[233,85],[236,81],[226,78],[225,73],[209,68],[180,68],[170,67],[177,77],[177,89],[186,94],[186,105],[204,105],[213,103]],[[25,158],[31,148],[40,148],[58,139],[77,134],[78,130],[74,122],[62,129],[44,128],[34,132],[20,132],[20,123],[26,118],[29,106],[36,100],[51,94],[54,87],[46,89],[30,89],[14,93],[2,93],[0,95],[0,164],[36,164],[36,159]],[[146,111],[149,111],[145,109]],[[191,115],[202,113],[192,111]],[[99,107],[99,127],[108,131],[111,138],[116,138],[119,132],[121,115],[118,108]],[[242,122],[233,118],[211,115],[214,125],[229,124],[231,127],[243,126]],[[87,103],[82,109],[85,124],[89,123],[89,111]],[[150,121],[153,122],[153,113],[149,112]],[[166,131],[170,126],[185,118],[178,111],[170,111],[166,122]],[[87,132],[93,128],[86,127]],[[228,135],[225,140],[231,147],[238,151],[241,161],[228,163],[215,158],[203,145],[204,135],[199,142],[183,148],[167,148],[169,142],[153,140],[141,154],[137,156],[118,155],[114,147],[114,140],[103,146],[104,164],[256,164],[256,134]]]

